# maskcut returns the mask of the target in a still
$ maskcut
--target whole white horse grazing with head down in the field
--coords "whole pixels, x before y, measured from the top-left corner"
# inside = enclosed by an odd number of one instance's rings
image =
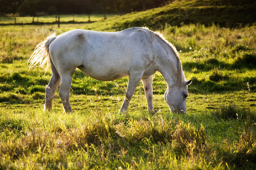
[[[39,43],[28,61],[30,68],[39,64],[52,68],[46,87],[44,108],[52,109],[52,99],[59,86],[59,96],[65,112],[72,112],[69,93],[76,68],[91,78],[110,81],[129,77],[119,113],[127,111],[129,102],[140,80],[148,104],[153,107],[153,74],[159,71],[167,83],[164,99],[171,111],[186,112],[187,86],[176,48],[159,33],[134,27],[120,32],[97,32],[75,29],[48,36]]]

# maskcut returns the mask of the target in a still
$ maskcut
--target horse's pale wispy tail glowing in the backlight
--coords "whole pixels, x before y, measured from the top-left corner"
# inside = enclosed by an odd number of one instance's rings
[[[49,46],[50,43],[55,40],[56,34],[52,33],[47,38],[37,44],[34,49],[33,54],[30,56],[28,63],[29,69],[39,64],[40,67],[44,67],[46,65],[46,70],[49,68]]]

